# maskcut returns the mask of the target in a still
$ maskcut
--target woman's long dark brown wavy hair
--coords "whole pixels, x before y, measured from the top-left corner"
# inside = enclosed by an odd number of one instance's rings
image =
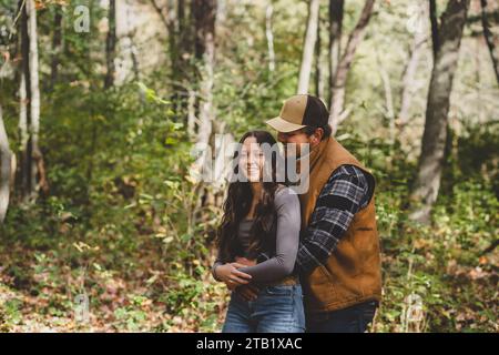
[[[253,136],[256,142],[262,145],[268,143],[271,146],[276,144],[275,139],[266,131],[251,131],[245,133],[240,143]],[[274,251],[275,248],[275,205],[274,197],[277,190],[276,182],[276,153],[272,156],[272,182],[263,182],[263,197],[256,205],[255,217],[249,231],[249,248],[246,251],[248,258],[256,258],[262,251]],[[237,156],[237,152],[235,156]],[[265,162],[267,164],[268,162]],[[240,164],[235,164],[234,173],[238,173]],[[237,242],[237,230],[241,221],[248,214],[251,203],[253,200],[253,192],[249,182],[235,181],[228,185],[227,197],[224,202],[224,215],[222,223],[217,230],[216,244],[220,252],[220,257],[224,262],[232,262],[234,256],[243,256],[244,251]]]

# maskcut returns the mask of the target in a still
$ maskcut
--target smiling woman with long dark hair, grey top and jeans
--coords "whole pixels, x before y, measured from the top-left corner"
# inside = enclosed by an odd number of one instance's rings
[[[276,156],[265,160],[262,144],[273,146],[271,133],[243,135],[235,174],[217,233],[218,257],[212,273],[233,291],[222,332],[302,333],[305,331],[302,286],[293,274],[299,242],[301,210],[297,195],[276,182]],[[268,154],[267,154],[268,155]],[[271,168],[272,181],[263,179]],[[235,263],[236,257],[271,258],[256,265]],[[245,301],[237,287],[248,283],[259,290],[255,301]],[[234,292],[235,291],[235,292]]]

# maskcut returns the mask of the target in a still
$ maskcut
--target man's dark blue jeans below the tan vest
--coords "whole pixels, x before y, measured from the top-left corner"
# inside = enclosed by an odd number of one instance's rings
[[[378,303],[369,301],[332,312],[307,314],[307,333],[364,333]]]

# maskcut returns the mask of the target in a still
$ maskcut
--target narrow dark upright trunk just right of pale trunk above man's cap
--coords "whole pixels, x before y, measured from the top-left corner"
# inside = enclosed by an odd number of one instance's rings
[[[342,29],[344,0],[329,0],[329,97],[328,105],[333,104],[333,88],[336,70],[342,58]]]

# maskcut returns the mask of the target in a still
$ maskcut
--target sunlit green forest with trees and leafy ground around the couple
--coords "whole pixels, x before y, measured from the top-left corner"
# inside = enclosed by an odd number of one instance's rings
[[[377,181],[369,332],[499,332],[498,47],[495,0],[0,0],[0,332],[220,332],[198,148],[296,93]]]

